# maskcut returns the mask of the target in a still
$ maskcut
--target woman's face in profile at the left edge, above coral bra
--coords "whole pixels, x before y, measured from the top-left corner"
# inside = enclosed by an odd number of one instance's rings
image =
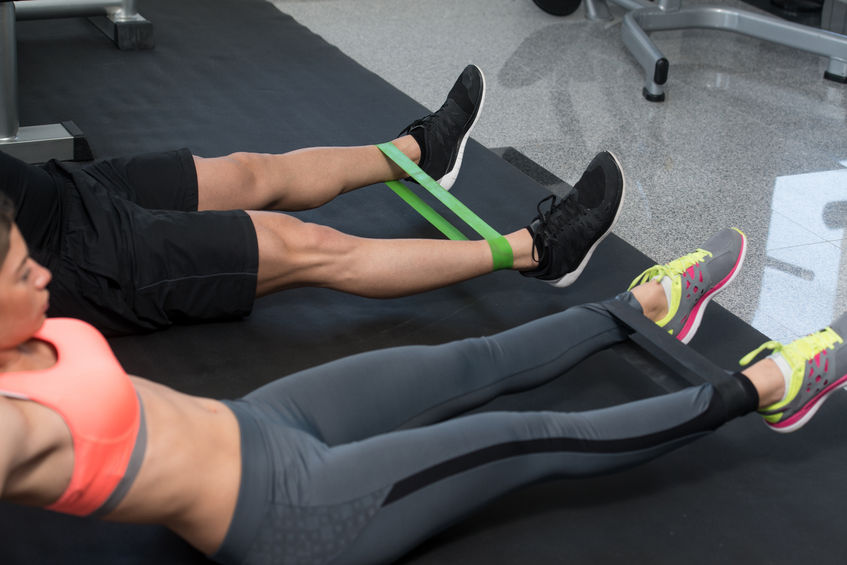
[[[18,226],[9,233],[9,253],[0,267],[0,347],[30,339],[47,318],[50,271],[29,256]]]

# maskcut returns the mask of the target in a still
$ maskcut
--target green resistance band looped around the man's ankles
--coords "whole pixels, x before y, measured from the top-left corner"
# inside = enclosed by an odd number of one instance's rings
[[[481,235],[491,247],[491,256],[494,260],[494,270],[511,269],[514,262],[512,246],[506,241],[506,238],[497,233],[497,231],[486,224],[482,218],[473,213],[473,211],[462,204],[458,198],[444,190],[432,177],[423,172],[411,159],[406,157],[402,151],[397,149],[393,143],[382,143],[377,145],[380,151],[385,153],[385,156],[397,163],[397,165],[406,171],[410,177],[415,179],[418,184],[427,189],[430,194],[435,196],[442,204],[456,214],[463,222],[469,225],[473,230]],[[426,218],[433,226],[441,233],[450,239],[463,240],[467,239],[465,235],[456,229],[448,222],[441,214],[432,209],[432,207],[421,200],[414,192],[406,185],[397,181],[388,181],[385,183],[391,190],[402,198],[409,206],[414,208],[421,216]]]

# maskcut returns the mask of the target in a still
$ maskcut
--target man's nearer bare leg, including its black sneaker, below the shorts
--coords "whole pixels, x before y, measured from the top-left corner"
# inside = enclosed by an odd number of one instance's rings
[[[625,193],[617,160],[601,153],[574,190],[552,199],[526,229],[505,236],[513,269],[555,286],[571,284],[609,234]],[[539,207],[540,208],[540,207]],[[257,295],[319,286],[373,298],[423,292],[494,269],[488,242],[366,239],[276,212],[248,212],[259,248]]]

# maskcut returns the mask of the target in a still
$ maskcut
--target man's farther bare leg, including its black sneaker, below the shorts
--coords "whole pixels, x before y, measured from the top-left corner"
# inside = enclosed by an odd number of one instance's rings
[[[484,99],[485,77],[469,65],[441,108],[412,122],[393,143],[449,190]],[[200,210],[303,210],[356,188],[406,176],[374,145],[195,157],[195,166]]]

